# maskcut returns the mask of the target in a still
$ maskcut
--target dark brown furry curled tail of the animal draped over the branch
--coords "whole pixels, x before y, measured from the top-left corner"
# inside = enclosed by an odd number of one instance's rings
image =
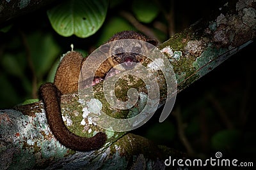
[[[77,151],[91,151],[99,149],[106,142],[104,132],[98,132],[92,138],[77,136],[70,132],[61,116],[61,92],[53,83],[45,83],[39,89],[45,107],[49,127],[54,137],[67,148]]]

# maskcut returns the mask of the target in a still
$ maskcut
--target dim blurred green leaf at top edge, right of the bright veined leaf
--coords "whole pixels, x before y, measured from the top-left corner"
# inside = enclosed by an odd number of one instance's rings
[[[140,22],[150,23],[159,13],[155,1],[138,0],[132,1],[132,11]]]

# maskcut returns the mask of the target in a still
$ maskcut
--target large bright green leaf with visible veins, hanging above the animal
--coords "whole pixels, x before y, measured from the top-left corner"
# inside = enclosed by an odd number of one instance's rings
[[[53,29],[61,36],[91,36],[103,24],[108,0],[64,1],[47,11]]]

